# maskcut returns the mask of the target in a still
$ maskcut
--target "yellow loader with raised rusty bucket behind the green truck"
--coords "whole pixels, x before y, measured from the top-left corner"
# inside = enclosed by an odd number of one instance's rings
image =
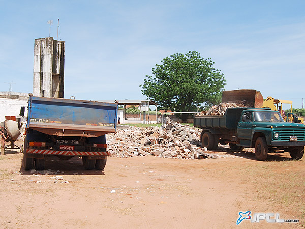
[[[282,114],[282,104],[290,104],[290,112],[284,118],[285,122],[295,122],[295,123],[304,123],[304,119],[298,117],[292,113],[292,101],[275,99],[271,96],[263,99],[260,91],[255,89],[238,89],[231,91],[223,91],[222,93],[222,102],[223,103],[241,103],[246,107],[255,107],[255,108],[270,108],[271,110],[279,110]]]

